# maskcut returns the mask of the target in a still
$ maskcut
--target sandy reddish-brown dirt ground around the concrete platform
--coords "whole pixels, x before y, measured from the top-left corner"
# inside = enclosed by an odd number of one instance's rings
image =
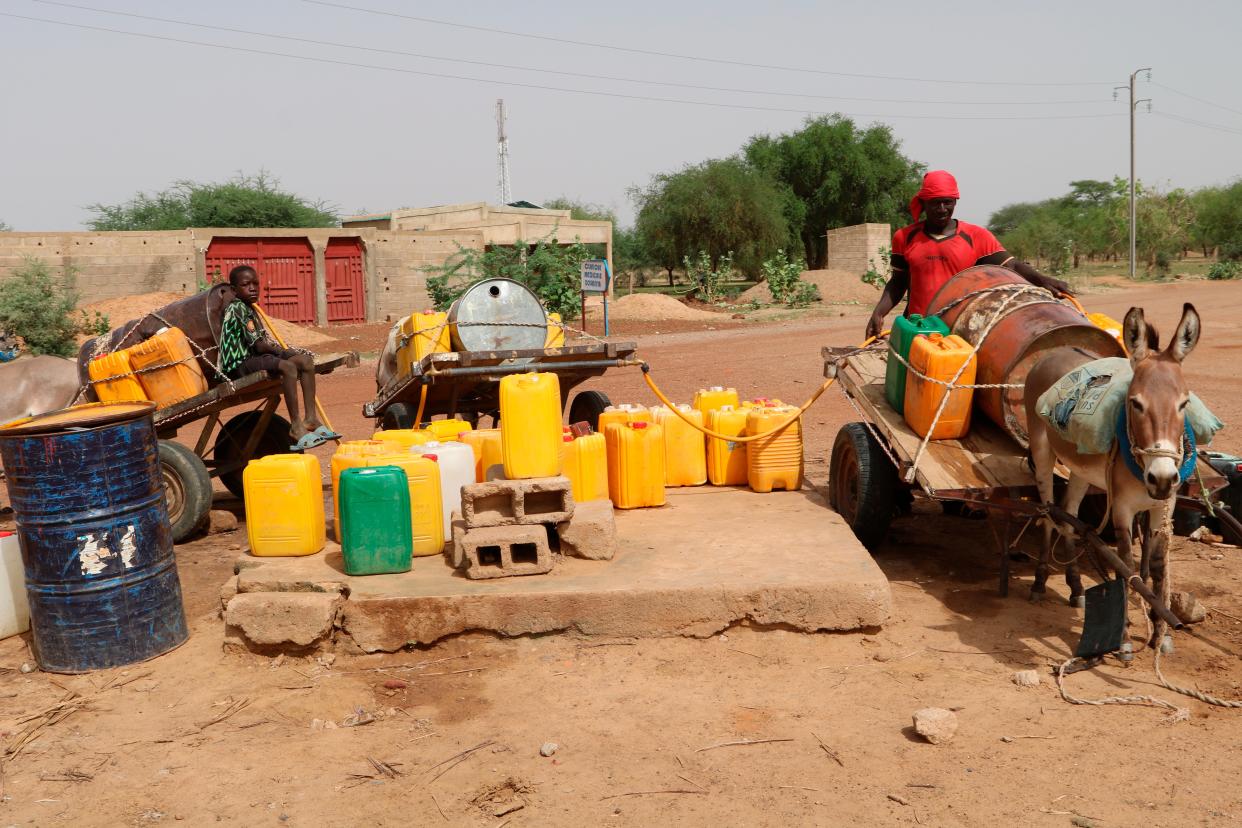
[[[1238,452],[1242,377],[1232,360],[1242,353],[1242,288],[1146,287],[1086,304],[1117,318],[1143,304],[1167,335],[1187,300],[1205,320],[1187,362],[1191,387],[1235,425],[1217,447]],[[677,400],[727,384],[801,402],[820,385],[820,346],[861,339],[866,313],[638,339],[652,376]],[[360,408],[373,370],[364,362],[322,382],[349,437],[370,430]],[[591,385],[616,402],[651,400],[636,370]],[[823,485],[831,439],[852,418],[835,389],[811,410],[810,484]],[[1048,668],[1077,643],[1081,611],[1066,606],[1058,578],[1054,596],[1028,603],[1023,564],[1010,597],[997,597],[990,526],[932,504],[897,521],[876,552],[895,605],[881,629],[737,627],[703,641],[462,636],[330,664],[222,653],[217,595],[243,541],[178,547],[191,638],[150,663],[24,674],[25,642],[0,642],[6,745],[32,724],[24,718],[68,691],[87,699],[5,763],[5,824],[1242,822],[1242,711],[1164,690],[1146,652],[1130,668],[1113,662],[1071,677],[1072,691],[1166,698],[1190,710],[1187,721],[1154,708],[1062,701]],[[1175,588],[1212,612],[1194,634],[1176,636],[1166,675],[1242,698],[1240,551],[1177,539],[1171,567]],[[1028,668],[1041,684],[1016,686],[1012,673]],[[951,742],[913,734],[910,714],[924,706],[956,710]],[[359,710],[374,721],[339,726]],[[559,746],[553,756],[539,755],[544,742]]]

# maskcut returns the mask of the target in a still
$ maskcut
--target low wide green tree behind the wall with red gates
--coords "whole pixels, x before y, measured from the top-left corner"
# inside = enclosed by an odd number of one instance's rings
[[[138,192],[116,205],[93,204],[91,230],[184,230],[186,227],[335,227],[335,209],[286,192],[266,171],[219,184],[176,181],[168,190]]]

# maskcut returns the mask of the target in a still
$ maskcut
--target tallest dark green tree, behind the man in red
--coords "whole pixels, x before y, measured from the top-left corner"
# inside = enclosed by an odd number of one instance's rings
[[[889,127],[859,129],[842,115],[807,118],[795,133],[755,135],[743,153],[781,186],[811,268],[827,263],[825,233],[833,227],[907,223],[905,207],[925,169],[902,154]]]

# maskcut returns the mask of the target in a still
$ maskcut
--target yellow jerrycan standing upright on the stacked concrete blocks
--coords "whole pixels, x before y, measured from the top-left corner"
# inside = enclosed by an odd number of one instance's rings
[[[560,473],[560,381],[555,374],[501,379],[501,453],[504,477],[520,480]]]

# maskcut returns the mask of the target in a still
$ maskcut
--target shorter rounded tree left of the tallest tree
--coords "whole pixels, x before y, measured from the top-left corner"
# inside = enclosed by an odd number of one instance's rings
[[[668,271],[687,256],[705,252],[712,268],[733,262],[754,276],[790,235],[776,184],[739,158],[704,161],[656,175],[630,196],[638,209],[636,230],[651,261]]]

